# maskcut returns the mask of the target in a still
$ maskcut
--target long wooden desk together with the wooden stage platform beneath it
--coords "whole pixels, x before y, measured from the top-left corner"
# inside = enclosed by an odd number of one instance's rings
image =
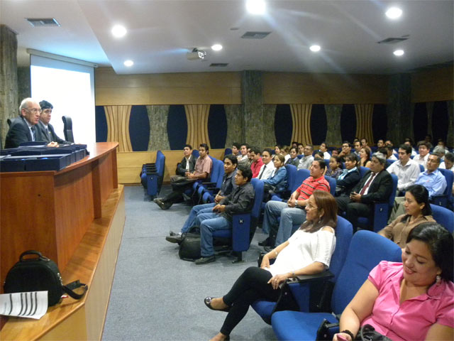
[[[1,340],[101,337],[125,220],[117,146],[97,143],[62,171],[0,173],[1,283],[19,255],[34,249],[58,264],[65,283],[89,284],[81,301],[67,298],[38,321],[9,318]],[[68,327],[77,332],[68,335]]]

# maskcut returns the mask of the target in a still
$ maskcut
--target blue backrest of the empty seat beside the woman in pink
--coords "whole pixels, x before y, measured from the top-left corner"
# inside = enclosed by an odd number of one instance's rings
[[[347,258],[334,286],[331,308],[340,314],[380,261],[402,261],[402,249],[389,239],[367,230],[353,235]]]

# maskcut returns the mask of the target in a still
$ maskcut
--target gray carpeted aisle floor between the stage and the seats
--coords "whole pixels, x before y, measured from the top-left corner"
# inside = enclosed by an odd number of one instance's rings
[[[163,187],[161,195],[170,190]],[[209,340],[221,328],[226,313],[209,310],[206,296],[222,296],[248,266],[256,266],[258,229],[243,253],[197,266],[178,257],[177,244],[165,241],[169,230],[179,232],[191,207],[173,205],[162,211],[140,186],[125,188],[123,231],[103,340]],[[231,333],[231,340],[276,340],[272,328],[250,308]]]

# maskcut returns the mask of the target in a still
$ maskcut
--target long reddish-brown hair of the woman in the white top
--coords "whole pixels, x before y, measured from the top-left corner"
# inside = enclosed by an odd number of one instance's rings
[[[323,209],[323,217],[317,222],[306,220],[300,229],[309,233],[317,232],[325,226],[331,226],[333,229],[336,229],[336,224],[338,223],[338,204],[334,200],[333,195],[323,190],[314,190],[312,195],[314,195],[317,210],[321,211]]]

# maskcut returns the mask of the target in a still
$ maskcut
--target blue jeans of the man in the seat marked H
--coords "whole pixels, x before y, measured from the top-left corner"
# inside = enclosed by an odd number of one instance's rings
[[[218,213],[200,213],[196,217],[200,226],[200,254],[202,257],[214,255],[213,232],[220,229],[232,229],[232,223]]]

